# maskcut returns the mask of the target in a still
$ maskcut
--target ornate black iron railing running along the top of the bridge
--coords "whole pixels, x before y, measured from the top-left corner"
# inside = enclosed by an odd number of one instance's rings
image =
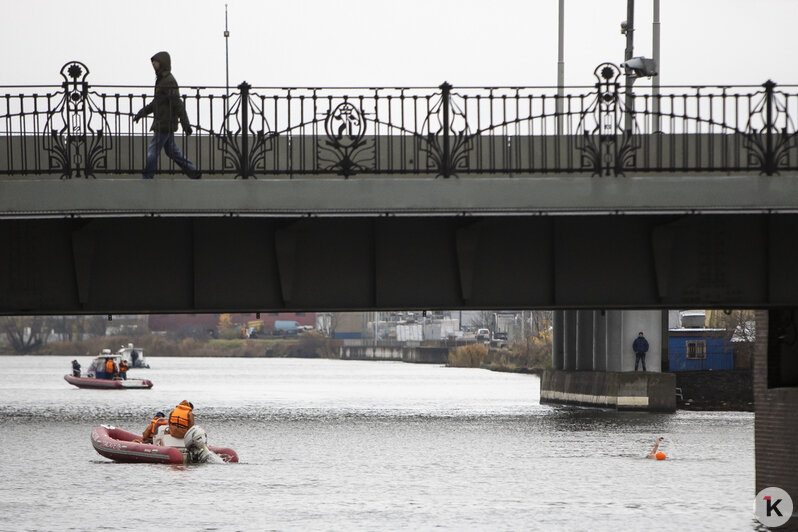
[[[55,86],[0,87],[0,174],[141,173],[149,87],[90,85],[70,61]],[[638,87],[611,63],[594,86],[184,87],[204,174],[241,178],[535,176],[798,170],[796,87]],[[627,99],[627,96],[631,98]],[[631,120],[627,120],[631,113]],[[631,124],[629,126],[628,124]],[[180,169],[160,157],[160,173]]]

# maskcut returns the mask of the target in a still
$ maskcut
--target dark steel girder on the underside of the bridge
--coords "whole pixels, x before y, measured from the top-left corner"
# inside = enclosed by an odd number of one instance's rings
[[[0,220],[0,312],[798,306],[795,214]]]

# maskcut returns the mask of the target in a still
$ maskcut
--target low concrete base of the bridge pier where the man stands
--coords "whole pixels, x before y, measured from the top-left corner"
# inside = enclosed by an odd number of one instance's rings
[[[675,412],[675,390],[672,373],[546,370],[540,402]]]

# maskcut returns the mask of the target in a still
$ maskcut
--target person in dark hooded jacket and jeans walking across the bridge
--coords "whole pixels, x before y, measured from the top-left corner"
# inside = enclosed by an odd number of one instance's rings
[[[175,142],[178,120],[186,135],[191,135],[193,130],[183,100],[180,99],[180,87],[172,75],[172,59],[168,52],[158,52],[150,61],[152,68],[155,69],[155,96],[133,117],[133,122],[138,122],[142,117],[153,114],[152,127],[150,127],[153,135],[147,148],[147,164],[142,178],[153,178],[158,167],[158,155],[163,149],[190,179],[200,179],[202,173],[186,159]]]

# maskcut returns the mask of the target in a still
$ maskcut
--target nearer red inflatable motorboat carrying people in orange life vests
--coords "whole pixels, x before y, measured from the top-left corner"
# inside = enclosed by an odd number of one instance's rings
[[[153,443],[140,443],[140,434],[111,426],[100,425],[91,432],[94,450],[115,462],[146,462],[152,464],[198,464],[238,462],[238,455],[227,447],[208,446],[208,436],[202,427],[194,425],[184,438],[173,438],[160,427]]]

